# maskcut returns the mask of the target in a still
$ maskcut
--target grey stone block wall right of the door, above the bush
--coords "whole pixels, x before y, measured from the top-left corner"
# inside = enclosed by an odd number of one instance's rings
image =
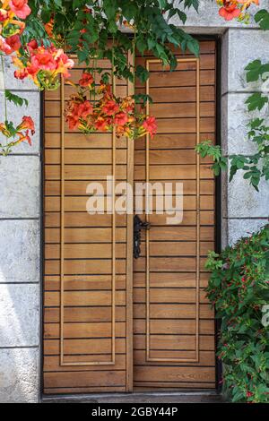
[[[269,32],[230,29],[222,37],[221,53],[221,142],[227,154],[254,152],[247,141],[247,122],[257,116],[248,113],[245,101],[260,83],[246,83],[245,67],[255,59],[269,61]],[[259,113],[260,115],[260,113]],[[268,107],[263,110],[268,116]],[[249,186],[240,172],[231,183],[222,175],[222,244],[256,231],[269,218],[269,185],[262,182],[260,192]]]

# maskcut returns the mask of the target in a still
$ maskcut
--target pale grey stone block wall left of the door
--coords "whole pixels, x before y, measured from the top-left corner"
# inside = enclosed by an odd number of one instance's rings
[[[40,356],[40,107],[39,91],[13,78],[7,59],[6,89],[29,100],[8,105],[8,118],[32,116],[36,134],[0,158],[0,401],[39,400]],[[0,121],[4,97],[0,92]]]

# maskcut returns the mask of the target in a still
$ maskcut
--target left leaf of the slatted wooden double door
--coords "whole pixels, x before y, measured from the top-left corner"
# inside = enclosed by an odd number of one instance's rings
[[[61,116],[71,93],[62,84],[45,97],[44,392],[128,391],[127,217],[89,215],[86,189],[126,180],[129,144],[71,133]]]

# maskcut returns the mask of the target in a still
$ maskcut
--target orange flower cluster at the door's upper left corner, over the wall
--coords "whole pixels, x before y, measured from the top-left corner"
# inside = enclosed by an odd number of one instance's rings
[[[14,72],[17,79],[29,77],[40,89],[55,90],[59,86],[58,75],[69,77],[69,69],[74,66],[62,48],[39,46],[33,40],[25,48],[25,56],[13,56],[13,64],[19,69]]]

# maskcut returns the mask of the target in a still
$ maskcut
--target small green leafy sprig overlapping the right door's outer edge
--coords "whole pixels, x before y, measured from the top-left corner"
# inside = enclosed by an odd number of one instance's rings
[[[204,141],[198,143],[195,150],[201,155],[202,158],[210,157],[213,159],[213,173],[215,176],[219,176],[221,170],[227,169],[228,159],[222,156],[221,146],[213,145],[212,141]]]

